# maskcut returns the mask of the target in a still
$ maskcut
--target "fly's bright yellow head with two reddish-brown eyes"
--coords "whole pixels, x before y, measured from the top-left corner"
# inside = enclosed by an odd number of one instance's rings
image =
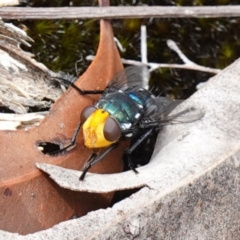
[[[86,107],[81,114],[84,144],[88,148],[108,147],[121,137],[117,121],[108,112],[94,106]]]

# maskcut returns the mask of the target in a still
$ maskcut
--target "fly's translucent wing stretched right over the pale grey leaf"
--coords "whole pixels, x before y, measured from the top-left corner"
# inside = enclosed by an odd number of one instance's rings
[[[140,123],[142,128],[158,127],[167,124],[189,123],[201,119],[204,112],[194,107],[187,108],[175,114],[171,111],[177,107],[183,100],[170,100],[165,97],[158,97],[158,110],[150,117],[145,118]]]

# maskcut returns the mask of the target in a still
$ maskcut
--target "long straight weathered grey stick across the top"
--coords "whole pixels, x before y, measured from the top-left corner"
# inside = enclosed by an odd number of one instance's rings
[[[217,18],[239,17],[240,6],[204,7],[59,7],[0,8],[2,19],[124,19],[124,18]]]

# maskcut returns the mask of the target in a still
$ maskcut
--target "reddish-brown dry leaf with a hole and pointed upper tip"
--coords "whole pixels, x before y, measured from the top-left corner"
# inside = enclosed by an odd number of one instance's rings
[[[112,76],[122,69],[111,25],[101,20],[97,56],[77,80],[83,89],[104,89]],[[51,108],[38,127],[27,131],[0,131],[0,229],[28,234],[49,228],[74,214],[82,216],[91,210],[109,205],[113,193],[77,193],[60,188],[35,167],[36,162],[51,163],[70,169],[81,169],[91,150],[83,144],[82,134],[76,147],[57,155],[44,155],[39,142],[69,141],[79,122],[81,110],[98,96],[81,96],[69,89]],[[115,173],[122,170],[121,145],[91,171]],[[113,162],[114,159],[114,162]]]

